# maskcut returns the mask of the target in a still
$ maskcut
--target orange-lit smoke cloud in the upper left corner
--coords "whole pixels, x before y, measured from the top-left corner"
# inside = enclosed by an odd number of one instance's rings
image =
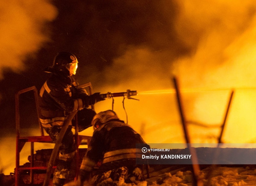
[[[2,70],[24,71],[26,57],[50,41],[45,25],[57,11],[48,0],[11,0],[0,3],[0,79]]]

